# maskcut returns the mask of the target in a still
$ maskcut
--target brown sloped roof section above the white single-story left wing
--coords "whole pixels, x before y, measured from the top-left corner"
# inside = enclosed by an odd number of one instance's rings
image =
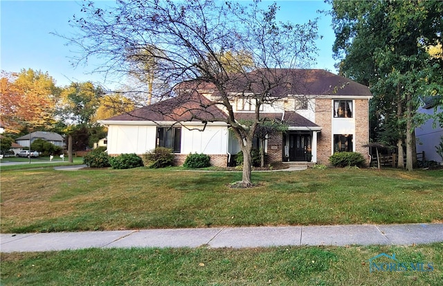
[[[141,107],[127,114],[121,114],[103,121],[217,121],[226,118],[215,102],[199,95],[197,91],[181,93],[179,96]]]

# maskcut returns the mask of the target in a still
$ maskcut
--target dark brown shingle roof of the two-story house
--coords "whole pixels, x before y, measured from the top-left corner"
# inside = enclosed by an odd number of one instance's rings
[[[321,69],[270,69],[231,77],[224,88],[233,93],[260,93],[264,86],[271,84],[269,93],[277,98],[288,95],[305,96],[371,96],[368,87],[329,71]],[[210,82],[190,81],[179,84],[176,88],[179,96],[156,102],[153,105],[136,109],[127,114],[114,116],[107,120],[150,120],[150,121],[217,121],[225,119],[226,114],[201,93],[217,96],[215,85]],[[237,119],[246,118],[247,113],[237,113]],[[277,116],[277,114],[261,114]],[[280,113],[280,118],[282,114]],[[251,118],[250,118],[251,119]],[[105,120],[105,121],[107,121]],[[286,112],[284,120],[291,126],[318,127],[296,112]]]

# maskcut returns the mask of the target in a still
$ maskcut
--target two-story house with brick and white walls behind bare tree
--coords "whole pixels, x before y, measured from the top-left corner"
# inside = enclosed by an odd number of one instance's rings
[[[341,151],[360,152],[367,157],[368,148],[363,145],[369,141],[369,88],[320,69],[297,69],[292,73],[293,82],[283,87],[285,95],[279,96],[276,89],[273,104],[263,105],[260,112],[261,118],[288,125],[287,132],[266,139],[268,161],[311,159],[328,163],[334,152]],[[235,118],[252,118],[255,105],[244,96],[247,93],[238,96],[240,89],[230,91]],[[215,100],[215,87],[199,84],[188,96],[100,120],[108,127],[108,154],[144,154],[163,146],[174,150],[177,164],[197,152],[210,155],[214,166],[226,166],[240,149],[229,126],[217,120],[226,118],[226,111],[212,105]]]

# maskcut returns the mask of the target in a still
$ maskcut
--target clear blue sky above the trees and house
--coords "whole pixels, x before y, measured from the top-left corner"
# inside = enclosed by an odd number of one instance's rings
[[[334,32],[331,18],[320,15],[317,10],[329,10],[323,1],[276,1],[280,6],[279,19],[303,24],[309,19],[320,17],[318,32],[323,39],[317,41],[318,61],[312,66],[336,72],[332,59]],[[113,79],[105,82],[103,75],[91,74],[95,64],[73,67],[70,57],[75,55],[75,47],[66,46],[66,40],[51,35],[75,33],[69,26],[69,19],[80,14],[81,1],[4,1],[0,0],[1,9],[1,45],[0,68],[4,71],[35,69],[48,72],[56,80],[57,86],[63,87],[70,82],[91,80],[105,86],[114,85]],[[96,1],[100,5],[112,1]],[[264,3],[273,3],[265,0]]]

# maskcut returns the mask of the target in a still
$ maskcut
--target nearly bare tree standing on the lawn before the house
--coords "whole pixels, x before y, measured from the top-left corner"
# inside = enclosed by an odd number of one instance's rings
[[[153,94],[161,99],[181,96],[173,90],[183,87],[183,82],[188,83],[188,92],[197,92],[201,84],[215,87],[215,95],[209,103],[203,102],[204,108],[214,105],[226,111],[226,116],[210,120],[226,122],[237,137],[244,154],[242,182],[247,187],[252,184],[253,136],[265,120],[260,116],[262,105],[272,104],[285,93],[296,94],[291,71],[314,62],[316,51],[316,21],[282,23],[275,18],[275,3],[261,7],[257,0],[248,6],[213,0],[120,0],[107,9],[88,2],[82,5],[82,15],[71,21],[78,35],[68,38],[81,48],[79,62],[93,56],[107,59],[97,71],[127,73],[128,59],[134,57],[155,62],[156,80],[172,87],[168,93]],[[226,64],[221,55],[227,53],[247,53],[251,66],[244,69],[244,57],[229,57]],[[235,118],[231,104],[238,96],[255,105],[251,126],[244,127]]]

